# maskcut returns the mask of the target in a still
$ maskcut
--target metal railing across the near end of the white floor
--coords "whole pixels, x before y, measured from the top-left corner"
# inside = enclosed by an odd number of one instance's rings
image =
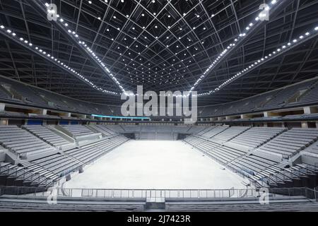
[[[67,198],[259,198],[257,189],[62,189],[56,188],[59,197]],[[318,192],[305,187],[269,189],[269,196],[304,196],[317,200]],[[44,188],[0,186],[1,195],[49,196]]]

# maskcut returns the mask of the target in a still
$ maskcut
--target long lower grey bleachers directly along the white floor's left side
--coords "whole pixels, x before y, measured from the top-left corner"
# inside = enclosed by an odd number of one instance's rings
[[[128,141],[124,136],[113,136],[89,143],[81,148],[65,150],[36,160],[20,160],[18,165],[0,162],[0,185],[53,186],[61,177],[81,169],[113,148]]]

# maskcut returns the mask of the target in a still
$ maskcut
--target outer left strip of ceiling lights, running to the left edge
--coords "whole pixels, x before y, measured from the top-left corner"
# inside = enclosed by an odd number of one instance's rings
[[[64,69],[69,71],[69,73],[73,73],[73,75],[76,75],[78,78],[81,78],[81,80],[83,80],[86,83],[88,83],[88,85],[90,85],[95,90],[99,90],[102,93],[107,93],[107,94],[110,94],[110,95],[119,95],[119,93],[115,93],[115,92],[112,92],[110,90],[105,90],[103,88],[98,87],[98,85],[95,85],[93,82],[89,81],[85,76],[83,76],[80,73],[76,72],[74,69],[72,69],[71,67],[66,65],[61,60],[53,57],[52,54],[49,54],[48,52],[45,52],[43,49],[41,49],[40,47],[35,46],[33,43],[29,42],[28,40],[25,40],[23,37],[17,37],[16,33],[13,32],[13,30],[6,28],[4,25],[0,25],[0,29],[4,30],[6,33],[8,33],[8,35],[11,35],[11,37],[13,37],[17,41],[19,41],[21,44],[25,44],[26,47],[33,48],[33,50],[35,50],[35,52],[38,52],[39,54],[41,54],[42,57],[45,57],[45,59],[47,59],[48,61],[52,61],[54,64],[59,64],[60,66],[64,67]]]

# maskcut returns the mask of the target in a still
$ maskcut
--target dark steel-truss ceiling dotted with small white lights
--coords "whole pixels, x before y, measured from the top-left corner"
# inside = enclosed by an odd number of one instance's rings
[[[0,0],[0,23],[63,61],[93,84],[114,93],[190,90],[223,49],[245,32],[269,1],[255,0]],[[47,19],[45,3],[57,5],[59,20]],[[194,90],[206,93],[256,59],[318,25],[317,0],[277,0],[270,20],[225,54]],[[67,28],[64,26],[67,23]],[[72,32],[78,35],[75,37]],[[80,100],[118,103],[119,95],[96,90],[63,66],[0,30],[0,74]],[[108,73],[83,44],[110,70]],[[200,105],[230,102],[317,76],[314,36],[254,67]],[[110,76],[112,73],[112,76]],[[116,79],[118,83],[116,83]]]

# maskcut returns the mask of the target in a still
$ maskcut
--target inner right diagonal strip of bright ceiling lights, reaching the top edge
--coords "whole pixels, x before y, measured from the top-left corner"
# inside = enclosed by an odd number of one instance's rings
[[[271,3],[269,4],[268,7],[265,8],[266,11],[269,11],[271,9],[271,6],[275,5],[277,3],[278,0],[272,0]],[[240,35],[238,35],[234,42],[232,42],[231,44],[228,45],[228,47],[226,47],[223,52],[221,52],[220,54],[218,54],[218,57],[216,58],[215,61],[213,61],[213,63],[208,67],[208,69],[206,69],[206,71],[204,71],[204,74],[200,76],[200,78],[196,81],[196,83],[194,83],[194,85],[192,86],[192,88],[190,89],[190,92],[192,92],[194,90],[194,88],[196,88],[196,85],[198,85],[200,83],[200,81],[202,81],[206,75],[208,74],[209,71],[211,71],[211,69],[213,69],[213,66],[215,66],[218,61],[220,61],[220,59],[223,57],[224,54],[226,54],[226,52],[228,52],[230,49],[234,48],[236,45],[236,42],[238,42],[239,40],[242,40],[242,38],[244,38],[247,35],[247,32],[249,32],[249,30],[256,24],[259,23],[261,20],[261,18],[264,18],[266,15],[265,13],[259,13],[259,15],[255,18],[256,22],[252,22],[249,23],[249,25],[247,25],[247,27],[245,28],[245,32],[242,32]]]

